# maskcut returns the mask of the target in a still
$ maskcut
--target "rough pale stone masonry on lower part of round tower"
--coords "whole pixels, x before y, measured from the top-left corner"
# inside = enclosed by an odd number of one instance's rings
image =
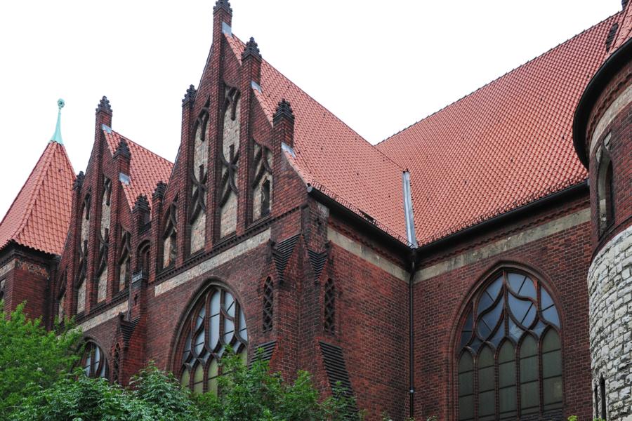
[[[595,381],[605,379],[608,420],[632,421],[631,272],[632,226],[600,250],[588,271],[591,369]]]

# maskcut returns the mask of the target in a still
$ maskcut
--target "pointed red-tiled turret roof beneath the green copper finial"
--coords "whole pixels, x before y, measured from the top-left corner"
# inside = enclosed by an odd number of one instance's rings
[[[73,181],[66,149],[49,142],[0,222],[0,248],[15,241],[60,255],[70,226]]]

